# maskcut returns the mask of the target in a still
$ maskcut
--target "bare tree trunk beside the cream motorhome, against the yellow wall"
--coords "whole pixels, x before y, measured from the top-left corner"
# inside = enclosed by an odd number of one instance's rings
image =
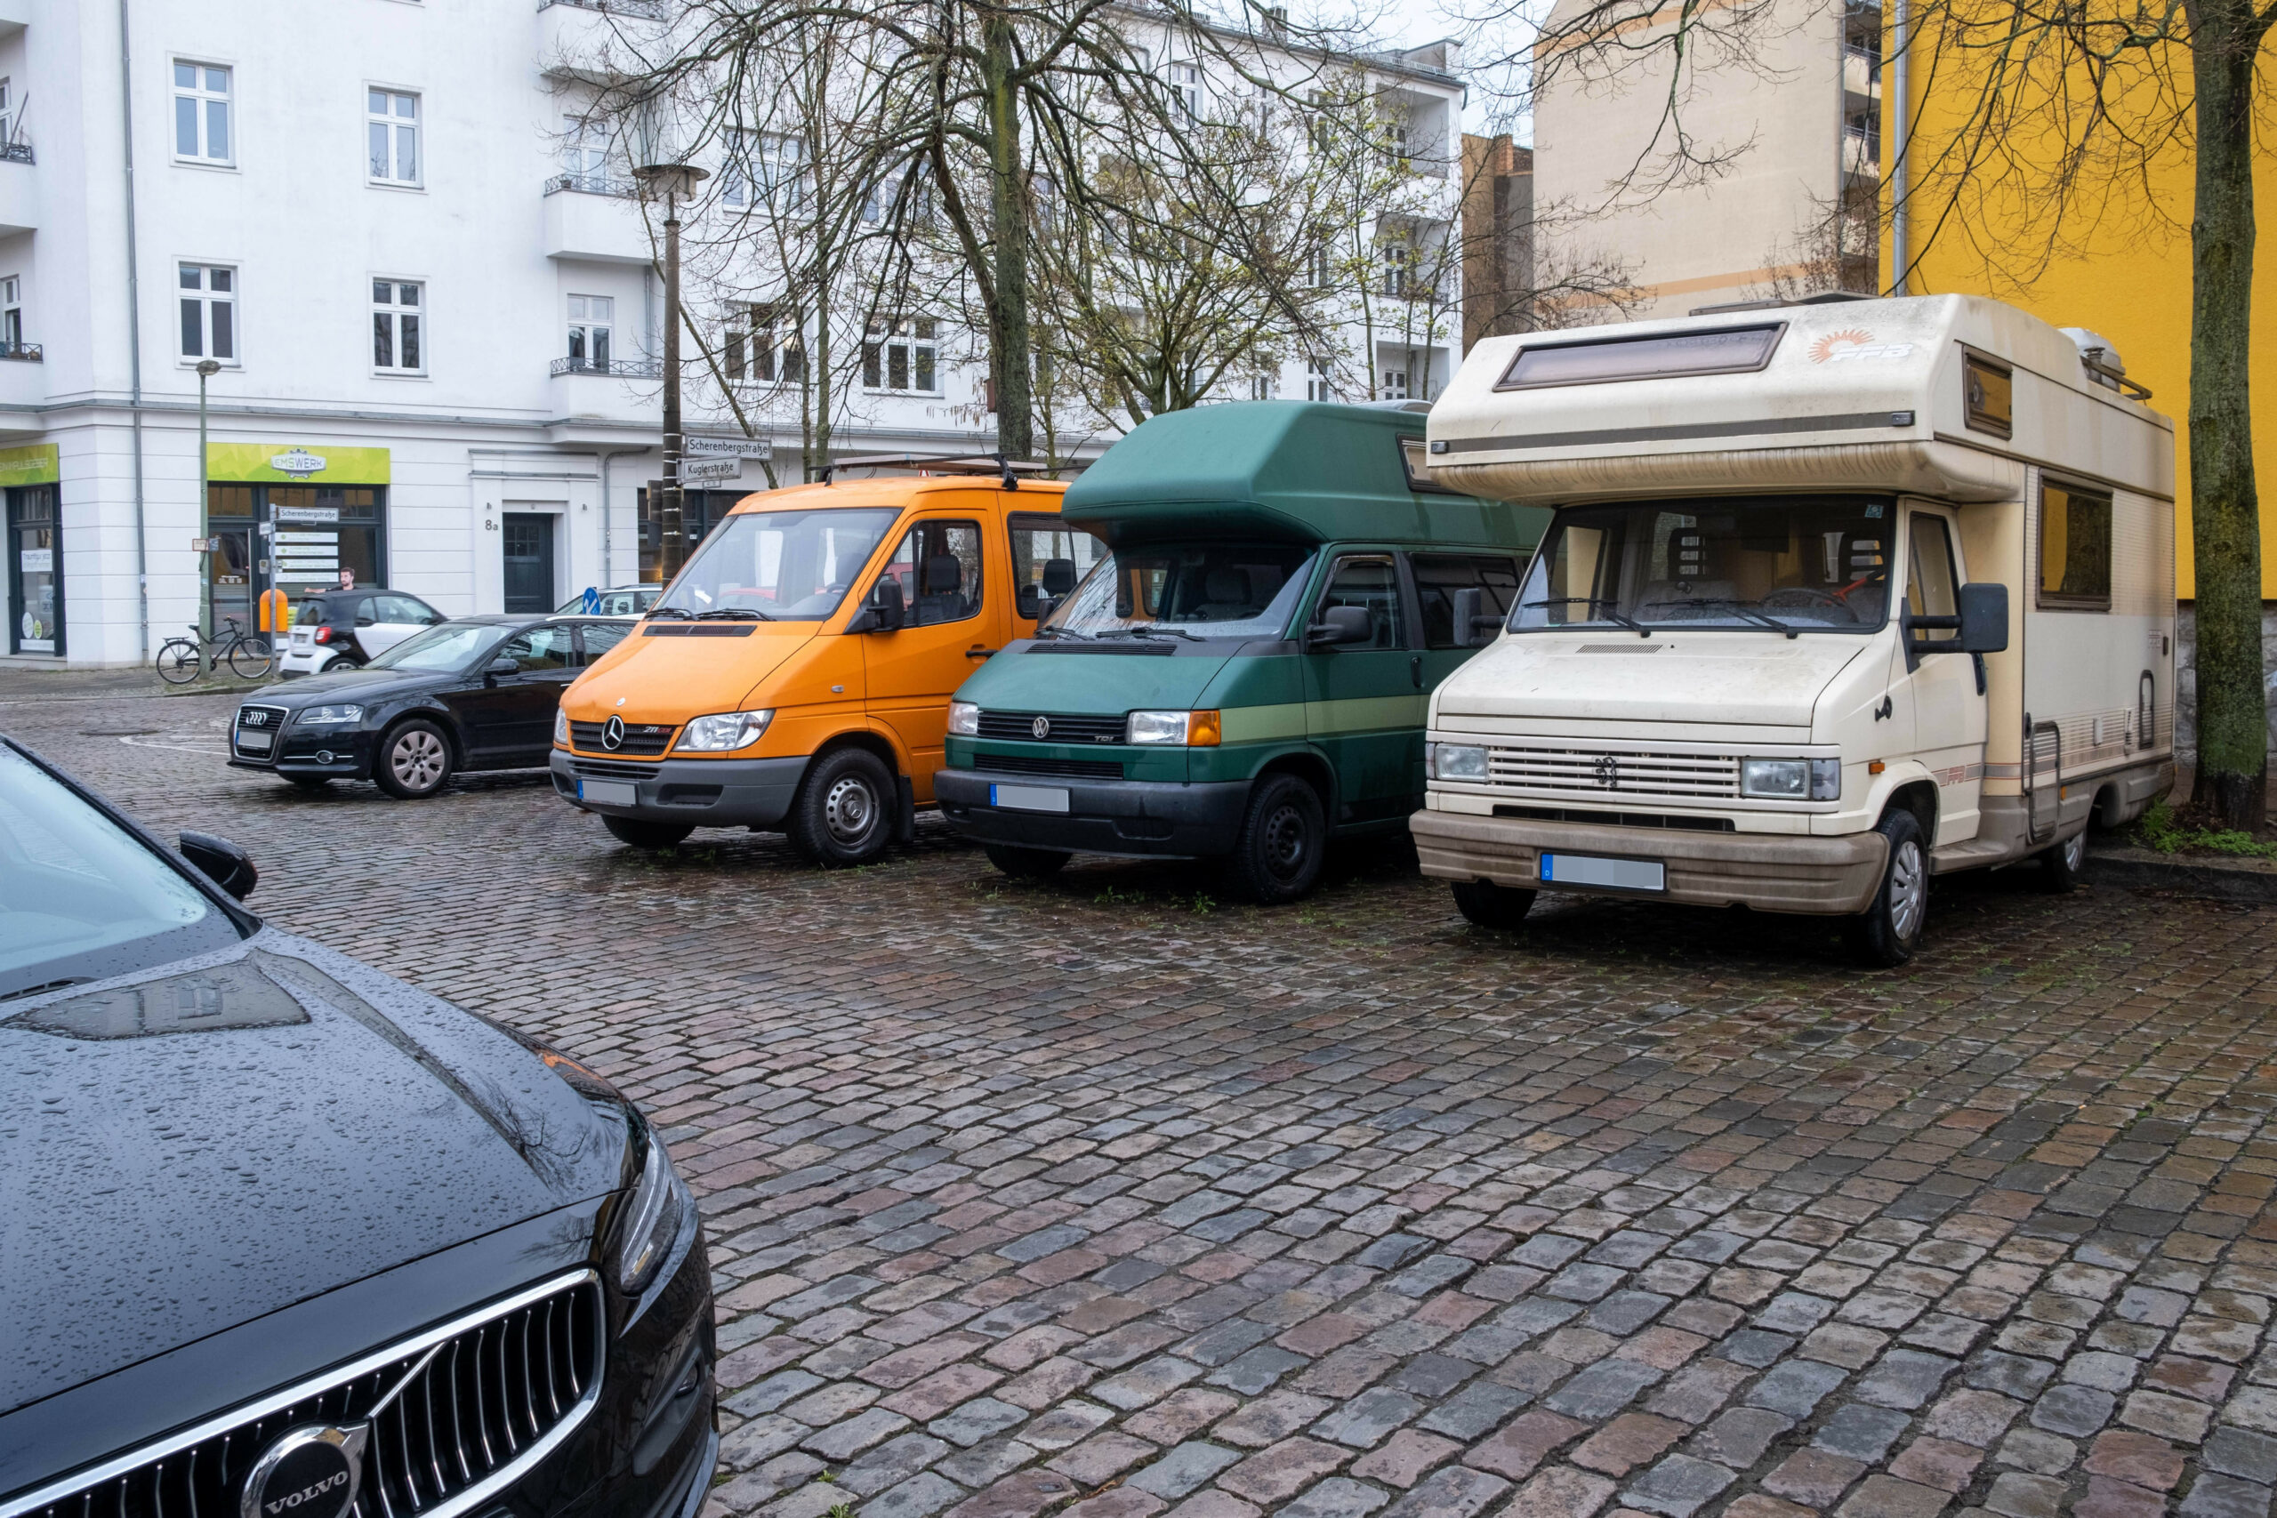
[[[2197,792],[2225,826],[2268,803],[2261,517],[2247,405],[2254,282],[2250,0],[2190,7],[2197,203],[2190,214],[2190,535],[2197,569]]]

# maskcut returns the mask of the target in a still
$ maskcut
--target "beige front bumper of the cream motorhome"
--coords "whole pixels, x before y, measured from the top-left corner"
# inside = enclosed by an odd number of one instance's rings
[[[1801,833],[1683,833],[1530,817],[1416,812],[1407,819],[1423,874],[1441,881],[1542,885],[1542,853],[1649,858],[1667,865],[1669,888],[1651,901],[1751,906],[1765,913],[1863,913],[1888,858],[1881,833],[1810,838]],[[1605,890],[1635,897],[1639,892]]]

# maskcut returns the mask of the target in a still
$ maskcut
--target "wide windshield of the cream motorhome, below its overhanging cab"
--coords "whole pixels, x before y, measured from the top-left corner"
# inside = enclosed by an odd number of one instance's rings
[[[1894,530],[1890,496],[1569,505],[1510,628],[1869,633],[1888,614]]]

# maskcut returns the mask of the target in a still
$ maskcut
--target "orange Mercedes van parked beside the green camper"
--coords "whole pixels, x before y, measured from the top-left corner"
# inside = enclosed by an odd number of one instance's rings
[[[1061,482],[963,469],[735,503],[562,694],[560,797],[640,849],[751,828],[861,865],[906,842],[950,694],[1104,553],[1059,521]]]

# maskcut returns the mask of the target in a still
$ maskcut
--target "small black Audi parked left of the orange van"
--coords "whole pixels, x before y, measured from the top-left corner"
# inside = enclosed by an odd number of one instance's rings
[[[230,765],[307,790],[378,781],[408,801],[460,769],[544,765],[562,690],[631,630],[540,612],[444,621],[360,669],[250,696],[230,724]]]

